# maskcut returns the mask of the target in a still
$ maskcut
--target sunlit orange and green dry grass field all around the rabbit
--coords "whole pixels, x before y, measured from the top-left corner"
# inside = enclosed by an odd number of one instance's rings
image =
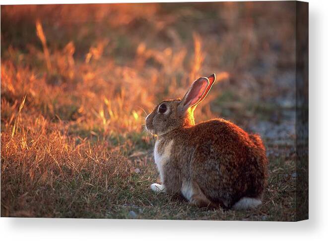
[[[292,14],[277,2],[1,6],[1,216],[294,220]],[[214,72],[196,119],[260,132],[258,210],[149,189],[146,113]]]

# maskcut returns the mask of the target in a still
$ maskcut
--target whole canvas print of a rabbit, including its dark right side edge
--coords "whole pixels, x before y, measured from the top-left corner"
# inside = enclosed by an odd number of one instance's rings
[[[308,219],[308,3],[2,5],[1,217]]]

